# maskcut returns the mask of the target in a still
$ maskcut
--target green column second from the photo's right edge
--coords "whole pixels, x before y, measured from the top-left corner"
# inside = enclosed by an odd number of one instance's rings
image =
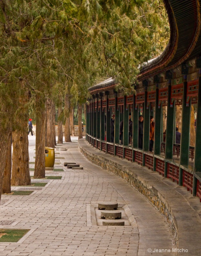
[[[189,106],[186,106],[186,95],[187,95],[187,75],[184,76],[183,81],[183,99],[182,99],[182,133],[181,133],[181,144],[180,144],[180,164],[189,164],[189,140],[190,140],[190,113],[191,113],[191,101]],[[179,173],[179,185],[182,186],[183,171]]]

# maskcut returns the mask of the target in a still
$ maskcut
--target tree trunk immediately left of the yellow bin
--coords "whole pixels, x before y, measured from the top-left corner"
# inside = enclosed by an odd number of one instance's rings
[[[45,178],[45,126],[46,109],[36,112],[35,169],[34,178]]]

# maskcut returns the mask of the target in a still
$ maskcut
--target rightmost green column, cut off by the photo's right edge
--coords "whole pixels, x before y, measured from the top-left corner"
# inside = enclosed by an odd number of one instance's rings
[[[183,127],[182,127],[183,129]],[[201,172],[201,69],[199,72],[194,172]]]

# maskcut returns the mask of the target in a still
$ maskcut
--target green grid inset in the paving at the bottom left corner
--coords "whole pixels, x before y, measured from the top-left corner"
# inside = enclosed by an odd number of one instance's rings
[[[29,230],[0,228],[0,243],[17,243]]]

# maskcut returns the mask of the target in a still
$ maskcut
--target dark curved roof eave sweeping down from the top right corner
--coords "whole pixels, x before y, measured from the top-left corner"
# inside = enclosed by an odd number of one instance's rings
[[[170,24],[170,40],[160,56],[143,66],[138,75],[139,81],[181,65],[189,58],[199,41],[200,1],[164,0],[164,3]],[[187,17],[188,23],[185,22]],[[200,50],[199,47],[199,52]]]

